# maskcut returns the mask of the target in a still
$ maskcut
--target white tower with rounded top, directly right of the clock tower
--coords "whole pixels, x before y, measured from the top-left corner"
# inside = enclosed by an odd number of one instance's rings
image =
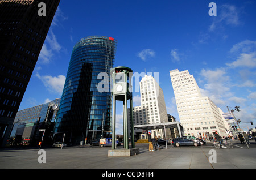
[[[134,125],[148,125],[168,122],[163,90],[160,88],[156,80],[151,75],[146,75],[140,82],[140,89],[141,106],[135,106],[133,108]],[[144,134],[145,132],[142,130],[135,130],[135,133]],[[152,137],[165,137],[164,130],[162,129],[153,129],[151,130],[151,133]],[[170,129],[166,129],[166,137],[171,138]]]

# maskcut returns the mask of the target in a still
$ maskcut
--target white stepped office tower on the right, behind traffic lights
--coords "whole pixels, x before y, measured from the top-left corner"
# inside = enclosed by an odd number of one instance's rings
[[[172,88],[184,135],[208,138],[217,131],[226,136],[225,125],[217,106],[209,99],[202,97],[193,75],[188,70],[170,71]]]

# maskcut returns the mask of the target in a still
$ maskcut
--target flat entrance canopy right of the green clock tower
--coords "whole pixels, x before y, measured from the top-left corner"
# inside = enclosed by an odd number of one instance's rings
[[[180,122],[165,122],[165,123],[155,123],[155,124],[148,124],[148,125],[134,125],[134,128],[139,128],[142,130],[157,130],[157,129],[164,129],[166,128],[177,128],[179,131],[180,137],[183,136],[183,126]]]

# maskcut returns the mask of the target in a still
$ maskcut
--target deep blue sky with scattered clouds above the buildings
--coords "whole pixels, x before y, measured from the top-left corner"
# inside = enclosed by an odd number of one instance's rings
[[[217,16],[209,16],[210,2]],[[256,2],[237,0],[61,0],[21,109],[61,98],[73,46],[86,36],[118,41],[114,66],[159,73],[167,113],[179,120],[170,70],[188,70],[204,96],[256,126]],[[134,93],[134,106],[140,105]],[[122,112],[118,111],[118,127]]]

